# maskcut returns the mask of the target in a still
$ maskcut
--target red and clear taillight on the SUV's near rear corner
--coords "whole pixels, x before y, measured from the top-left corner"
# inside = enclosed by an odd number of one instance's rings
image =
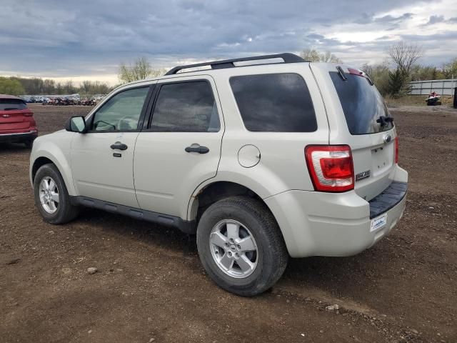
[[[348,145],[306,146],[305,157],[316,191],[346,192],[354,188],[354,167]]]

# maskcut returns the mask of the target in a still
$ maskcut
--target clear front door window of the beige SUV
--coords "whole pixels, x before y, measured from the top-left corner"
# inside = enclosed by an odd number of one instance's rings
[[[149,86],[121,91],[94,114],[91,131],[129,131],[138,129],[138,122],[148,95]]]

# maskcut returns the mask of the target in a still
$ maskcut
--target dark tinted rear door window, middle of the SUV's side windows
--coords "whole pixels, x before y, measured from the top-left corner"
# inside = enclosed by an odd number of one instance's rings
[[[192,81],[161,86],[152,114],[152,131],[217,132],[220,128],[216,101],[209,82]]]

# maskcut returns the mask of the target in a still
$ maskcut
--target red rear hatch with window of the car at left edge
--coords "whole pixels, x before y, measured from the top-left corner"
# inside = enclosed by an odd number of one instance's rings
[[[22,99],[0,98],[0,134],[28,129],[33,112]]]

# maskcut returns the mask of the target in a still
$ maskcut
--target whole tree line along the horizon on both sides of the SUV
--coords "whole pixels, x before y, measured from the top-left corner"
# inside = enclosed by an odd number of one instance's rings
[[[305,49],[301,57],[306,61],[343,63],[329,51]],[[419,61],[423,49],[418,44],[407,44],[400,41],[386,50],[385,59],[378,64],[363,64],[365,71],[376,84],[383,96],[399,97],[408,94],[410,81],[457,79],[457,57],[442,66],[423,65]],[[131,81],[161,76],[166,69],[155,69],[146,57],[136,59],[133,64],[119,65],[118,78],[120,84]],[[100,81],[83,81],[75,86],[73,81],[56,82],[52,79],[37,77],[23,78],[19,76],[0,77],[0,94],[107,94],[114,87]]]

